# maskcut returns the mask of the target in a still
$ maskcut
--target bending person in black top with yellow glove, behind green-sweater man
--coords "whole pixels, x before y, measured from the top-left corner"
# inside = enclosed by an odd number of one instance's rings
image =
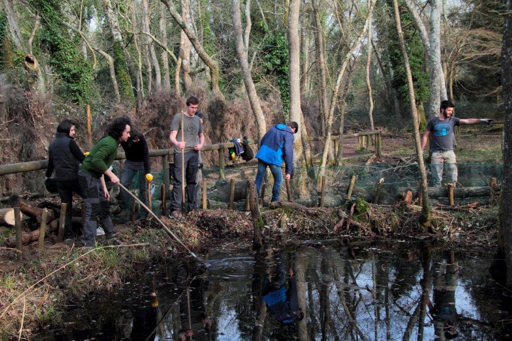
[[[130,188],[133,178],[135,176],[138,177],[139,199],[147,205],[147,183],[151,183],[153,175],[151,174],[150,152],[147,148],[146,139],[142,133],[132,129],[130,131],[130,138],[125,142],[121,142],[121,147],[123,147],[126,155],[126,161],[121,172],[121,184],[126,188]],[[129,209],[132,201],[133,199],[128,193],[124,191],[119,192],[119,211],[116,213],[120,214],[125,209]],[[145,209],[141,210],[139,217],[145,218],[147,212]]]

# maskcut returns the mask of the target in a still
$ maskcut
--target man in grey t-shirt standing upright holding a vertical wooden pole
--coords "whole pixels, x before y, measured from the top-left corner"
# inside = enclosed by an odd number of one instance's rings
[[[199,151],[204,145],[203,124],[201,119],[195,116],[199,106],[199,100],[191,96],[187,98],[186,110],[178,113],[170,124],[169,140],[174,145],[174,184],[173,199],[170,204],[170,218],[181,219],[180,207],[182,200],[181,174],[185,172],[187,203],[186,209],[197,210],[196,185],[197,170],[199,166]],[[183,140],[181,138],[181,120],[183,118]],[[199,143],[198,143],[199,138]],[[181,166],[181,151],[184,151],[184,168]]]

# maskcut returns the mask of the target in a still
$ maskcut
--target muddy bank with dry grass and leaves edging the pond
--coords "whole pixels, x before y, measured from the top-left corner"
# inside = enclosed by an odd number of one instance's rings
[[[418,222],[420,208],[415,206],[372,206],[353,201],[337,209],[264,209],[264,237],[293,245],[304,240],[343,238],[350,243],[424,235],[453,244],[496,245],[496,210],[433,211],[434,233],[428,234]],[[163,220],[198,254],[220,240],[252,236],[252,222],[246,212],[204,210],[190,215],[185,223]],[[112,290],[139,276],[146,265],[164,258],[186,257],[154,221],[118,225],[116,230],[123,245],[86,250],[55,244],[50,237],[41,253],[35,245],[28,245],[24,262],[15,261],[12,249],[0,249],[0,337],[21,333],[30,338],[41,327],[58,323],[61,312],[70,304],[80,304],[92,292]],[[6,234],[2,238],[7,238]]]

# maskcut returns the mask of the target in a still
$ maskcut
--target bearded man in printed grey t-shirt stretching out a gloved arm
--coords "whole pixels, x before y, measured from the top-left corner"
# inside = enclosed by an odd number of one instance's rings
[[[434,186],[441,186],[443,178],[443,166],[446,164],[446,180],[449,184],[457,183],[457,160],[453,151],[454,128],[456,125],[465,124],[490,124],[491,119],[459,119],[452,117],[455,105],[451,101],[442,101],[439,117],[435,117],[426,125],[421,151],[425,149],[432,132],[432,159],[431,171]]]

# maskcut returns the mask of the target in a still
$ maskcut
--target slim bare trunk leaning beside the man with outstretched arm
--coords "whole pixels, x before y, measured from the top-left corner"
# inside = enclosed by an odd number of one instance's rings
[[[421,152],[420,135],[419,135],[419,123],[418,123],[418,111],[416,111],[416,99],[414,97],[414,85],[413,77],[411,74],[411,66],[409,65],[409,56],[406,50],[406,43],[403,40],[402,25],[400,22],[400,13],[398,11],[398,0],[393,0],[394,14],[396,31],[398,34],[398,40],[400,42],[400,51],[402,52],[403,64],[406,69],[407,76],[407,87],[409,90],[409,105],[411,109],[411,116],[414,127],[414,146],[416,148],[416,158],[421,174],[421,189],[422,189],[422,223],[425,226],[430,226],[430,203],[429,203],[429,192],[427,190],[427,179],[425,163],[423,162],[423,153]]]

